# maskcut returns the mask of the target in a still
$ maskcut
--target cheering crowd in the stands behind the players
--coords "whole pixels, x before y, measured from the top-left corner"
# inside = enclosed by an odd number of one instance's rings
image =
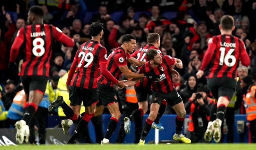
[[[242,80],[242,69],[246,75],[251,75],[252,79],[256,80],[256,0],[14,0],[11,4],[1,1],[0,108],[4,107],[4,111],[9,110],[15,95],[22,90],[19,69],[10,70],[8,62],[10,47],[18,30],[26,25],[28,8],[33,5],[42,6],[44,23],[53,24],[75,41],[74,47],[66,47],[58,41],[53,45],[49,79],[52,91],[56,91],[58,80],[68,73],[79,45],[90,40],[89,25],[100,21],[104,23],[105,28],[101,43],[106,47],[108,54],[120,47],[122,36],[125,34],[136,37],[135,50],[147,43],[149,33],[160,34],[162,53],[179,58],[183,62],[183,69],[173,66],[180,73],[180,77],[173,77],[173,81],[184,104],[187,104],[187,114],[190,114],[192,109],[188,102],[191,102],[191,97],[197,92],[203,93],[205,100],[202,105],[205,103],[207,107],[204,109],[209,111],[212,97],[206,86],[208,71],[206,69],[205,75],[200,79],[196,78],[196,73],[200,69],[208,39],[220,34],[218,25],[220,18],[225,14],[233,16],[236,29],[232,34],[244,41],[251,59],[249,67],[239,66],[238,81]],[[20,47],[16,59],[19,65],[24,55],[22,48]],[[236,93],[238,96],[234,106],[235,113],[245,114],[242,89]],[[120,104],[122,111],[125,103]],[[204,113],[209,115],[208,111]],[[108,113],[107,110],[104,113]],[[166,107],[165,113],[175,112]],[[9,128],[11,120],[8,118],[0,121],[0,128]],[[202,137],[196,142],[202,142],[201,140]]]

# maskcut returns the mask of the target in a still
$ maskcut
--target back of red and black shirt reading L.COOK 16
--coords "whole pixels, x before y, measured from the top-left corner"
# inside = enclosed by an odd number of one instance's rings
[[[245,51],[244,42],[232,35],[213,36],[209,41],[216,44],[213,64],[209,74],[212,77],[236,77],[240,55]],[[211,45],[209,45],[211,46]]]

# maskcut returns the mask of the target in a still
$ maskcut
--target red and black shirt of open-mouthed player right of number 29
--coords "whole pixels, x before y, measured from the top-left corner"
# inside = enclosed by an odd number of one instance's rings
[[[130,54],[128,52],[125,53],[122,47],[115,49],[108,56],[107,69],[117,80],[119,80],[119,77],[122,74],[119,66],[127,65],[127,59],[130,57]],[[111,87],[113,86],[113,83],[106,79],[106,77],[104,77],[102,74],[100,75],[98,82],[100,84],[109,85]]]

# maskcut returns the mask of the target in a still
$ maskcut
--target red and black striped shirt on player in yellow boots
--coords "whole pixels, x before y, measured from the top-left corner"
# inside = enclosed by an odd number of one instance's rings
[[[156,67],[152,67],[150,62],[147,61],[142,67],[140,67],[139,73],[155,73],[160,75],[160,79],[152,82],[152,89],[156,92],[170,93],[173,89],[172,74],[170,65],[175,64],[175,59],[168,55],[162,56],[162,63]]]

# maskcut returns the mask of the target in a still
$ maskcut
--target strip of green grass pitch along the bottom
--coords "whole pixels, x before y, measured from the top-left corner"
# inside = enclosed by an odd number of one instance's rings
[[[256,144],[73,144],[0,146],[0,150],[255,150]]]

